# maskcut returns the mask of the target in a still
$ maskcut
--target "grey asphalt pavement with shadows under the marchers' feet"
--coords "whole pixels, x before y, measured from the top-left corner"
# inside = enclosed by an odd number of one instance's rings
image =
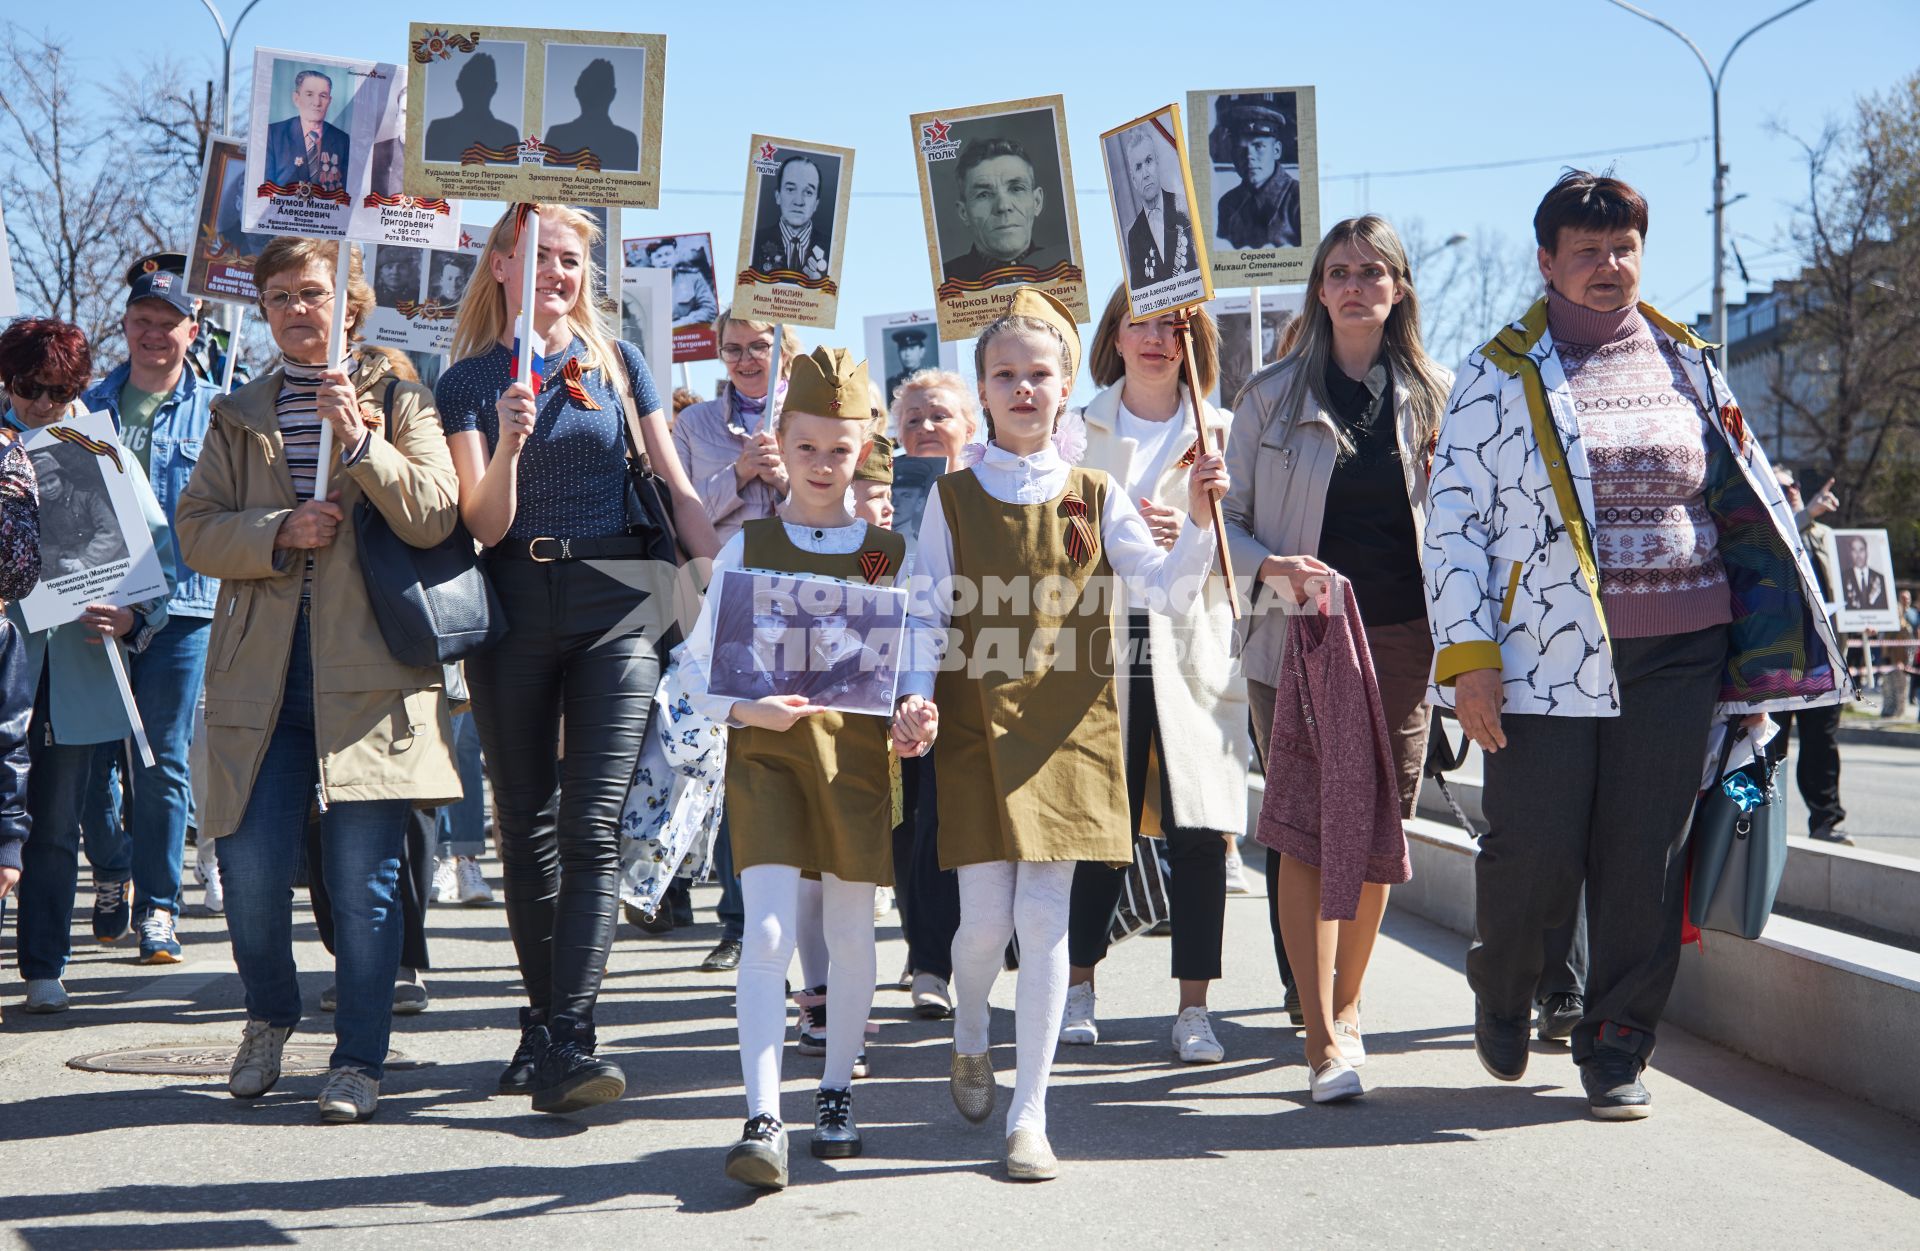
[[[192,892],[198,902],[198,890]],[[710,917],[714,892],[699,892]],[[86,904],[83,894],[83,906]],[[1227,1063],[1169,1057],[1164,940],[1116,948],[1102,1042],[1062,1048],[1050,1098],[1062,1178],[998,1176],[1000,1122],[973,1128],[947,1098],[948,1030],[879,992],[874,1076],[854,1092],[868,1155],[828,1165],[793,1136],[795,1184],[755,1197],[720,1172],[743,1119],[732,977],[695,971],[701,925],[620,931],[601,1000],[603,1051],[628,1098],[541,1117],[492,1098],[511,1051],[516,975],[505,913],[432,915],[432,1007],[394,1046],[378,1119],[315,1122],[317,1076],[240,1103],[223,1080],[79,1073],[115,1046],[232,1046],[240,984],[219,919],[188,917],[188,963],[148,971],[84,944],[63,1017],[0,1000],[0,1226],[8,1245],[240,1247],[1920,1247],[1920,1126],[1763,1069],[1680,1032],[1649,1078],[1655,1117],[1588,1121],[1565,1050],[1523,1082],[1471,1051],[1465,944],[1390,913],[1367,988],[1363,1076],[1350,1105],[1306,1098],[1279,1002],[1263,902],[1227,909],[1215,988]],[[301,909],[309,1003],[324,952]],[[899,969],[897,927],[881,971]],[[995,1063],[1012,1082],[1012,979],[995,992]],[[300,1038],[319,1040],[323,1015]],[[1816,1028],[1782,1005],[1780,1028]],[[1836,1046],[1845,1046],[1843,1038]],[[810,1119],[818,1061],[787,1055],[793,1121]]]

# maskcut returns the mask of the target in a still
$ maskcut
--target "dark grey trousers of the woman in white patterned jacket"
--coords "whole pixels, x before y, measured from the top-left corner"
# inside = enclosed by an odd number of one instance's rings
[[[1574,1061],[1596,1044],[1642,1059],[1653,1051],[1680,969],[1678,844],[1724,664],[1724,626],[1615,639],[1620,716],[1507,716],[1507,746],[1486,758],[1467,980],[1482,1009],[1524,1023],[1546,934],[1574,919],[1584,881],[1586,1017]]]

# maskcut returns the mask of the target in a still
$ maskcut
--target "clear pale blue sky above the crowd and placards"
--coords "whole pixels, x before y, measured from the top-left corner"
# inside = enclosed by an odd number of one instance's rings
[[[1645,0],[1718,65],[1728,44],[1788,0]],[[232,17],[244,0],[217,0]],[[10,6],[12,8],[12,6]],[[236,81],[253,44],[399,59],[407,21],[641,29],[668,36],[659,211],[628,209],[624,234],[710,230],[722,269],[737,244],[753,132],[856,150],[839,326],[808,342],[860,347],[860,317],[931,303],[908,113],[1064,94],[1081,188],[1081,240],[1094,307],[1119,278],[1098,134],[1188,88],[1313,84],[1321,217],[1421,219],[1436,238],[1505,234],[1523,244],[1565,159],[1605,165],[1653,209],[1645,294],[1692,319],[1709,301],[1711,146],[1707,81],[1670,35],[1605,0],[1371,4],[829,4],[791,17],[770,4],[639,6],[261,0],[240,27]],[[964,13],[977,35],[954,35]],[[12,13],[10,13],[12,15]],[[1198,31],[1183,35],[1192,17]],[[219,42],[198,0],[36,6],[29,21],[73,40],[79,69],[106,79],[142,50],[217,71]],[[1190,38],[1188,44],[1183,44]],[[1859,92],[1920,67],[1914,0],[1816,0],[1734,59],[1724,94],[1734,205],[1728,226],[1757,282],[1789,272],[1784,230],[1803,192],[1786,127],[1812,134]],[[1699,144],[1628,152],[1668,140]],[[1578,155],[1574,153],[1594,153]],[[1622,155],[1613,155],[1622,153]],[[1544,157],[1478,173],[1396,171]],[[1371,177],[1359,177],[1369,175]],[[476,215],[492,215],[486,209]],[[184,205],[182,205],[184,217]],[[184,223],[182,223],[184,234]],[[1730,274],[1738,297],[1738,272]],[[703,382],[703,372],[695,378]]]

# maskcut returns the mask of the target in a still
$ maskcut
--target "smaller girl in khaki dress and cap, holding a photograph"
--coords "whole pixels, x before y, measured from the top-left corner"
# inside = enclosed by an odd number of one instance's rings
[[[780,1190],[787,1184],[787,1130],[780,1121],[780,1050],[787,1030],[785,975],[793,961],[801,877],[818,875],[828,944],[828,1038],[814,1096],[812,1155],[860,1155],[852,1121],[852,1067],[874,1005],[874,888],[893,881],[893,787],[887,721],[829,712],[812,691],[837,670],[812,672],[814,649],[781,645],[783,622],[755,610],[753,641],[712,641],[726,570],[806,574],[887,585],[906,543],[847,510],[847,485],[868,451],[866,365],[820,347],[793,363],[780,414],[780,451],[791,495],[778,518],[747,522],[714,560],[712,593],[687,639],[689,695],[732,727],[726,804],[747,909],[735,1011],[747,1126],[728,1151],[728,1176]],[[766,635],[766,637],[762,637]],[[795,660],[791,652],[804,652]],[[745,672],[770,693],[707,695],[712,673]],[[828,700],[824,700],[828,702]],[[902,700],[893,737],[916,754],[933,737],[931,704]]]

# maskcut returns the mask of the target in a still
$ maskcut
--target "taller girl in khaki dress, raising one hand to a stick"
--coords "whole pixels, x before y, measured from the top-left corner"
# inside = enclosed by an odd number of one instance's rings
[[[916,672],[902,689],[939,693],[941,773],[977,779],[939,792],[941,867],[960,873],[954,1103],[973,1122],[993,1113],[987,996],[1018,936],[1006,1168],[1046,1180],[1058,1172],[1046,1078],[1066,1007],[1073,869],[1131,860],[1110,579],[1127,579],[1129,602],[1190,606],[1213,562],[1210,505],[1227,468],[1217,455],[1196,460],[1190,520],[1162,551],[1112,476],[1073,468],[1054,447],[1079,363],[1071,313],[1020,288],[973,351],[991,441],[979,464],[933,485],[914,579],[916,593],[929,583],[916,631],[945,639],[947,654],[937,677]]]

